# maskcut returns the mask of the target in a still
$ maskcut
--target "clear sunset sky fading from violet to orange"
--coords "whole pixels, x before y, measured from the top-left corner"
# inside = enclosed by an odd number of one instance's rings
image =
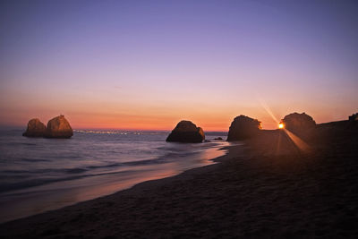
[[[357,1],[1,1],[0,125],[277,128],[358,111]]]

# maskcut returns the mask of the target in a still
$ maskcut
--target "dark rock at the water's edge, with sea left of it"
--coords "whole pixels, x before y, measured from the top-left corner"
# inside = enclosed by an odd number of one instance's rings
[[[202,142],[203,140],[205,140],[204,131],[186,120],[176,124],[175,129],[166,138],[166,141],[170,142]]]

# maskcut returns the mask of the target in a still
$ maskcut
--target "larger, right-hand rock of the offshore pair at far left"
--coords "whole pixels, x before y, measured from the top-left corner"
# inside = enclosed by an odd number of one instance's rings
[[[47,123],[47,138],[71,138],[73,131],[71,125],[64,118],[64,115],[59,115]]]

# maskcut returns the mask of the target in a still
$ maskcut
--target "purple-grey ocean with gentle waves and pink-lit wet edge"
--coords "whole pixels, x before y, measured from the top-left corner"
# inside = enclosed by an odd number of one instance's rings
[[[144,181],[213,164],[226,132],[203,143],[166,142],[169,132],[74,131],[71,139],[0,131],[0,222],[88,201]]]

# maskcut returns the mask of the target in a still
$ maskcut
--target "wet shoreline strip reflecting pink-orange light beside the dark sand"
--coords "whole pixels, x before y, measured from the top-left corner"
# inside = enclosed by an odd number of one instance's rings
[[[192,168],[216,164],[217,162],[214,161],[214,159],[217,157],[215,157],[215,155],[225,155],[225,150],[225,146],[223,147],[217,145],[204,148],[200,152],[196,152],[192,155],[185,156],[183,158],[176,158],[177,160],[180,160],[178,165],[175,164],[171,166],[173,163],[170,162],[166,163],[167,166],[159,164],[156,166],[157,169],[155,171],[153,171],[150,166],[141,166],[141,168],[137,169],[138,172],[132,172],[131,174],[128,173],[128,175],[123,175],[121,173],[120,175],[101,175],[99,177],[97,176],[96,178],[81,178],[79,180],[81,180],[82,183],[77,183],[79,185],[77,185],[74,190],[71,187],[66,189],[66,185],[75,184],[72,181],[60,181],[11,192],[4,192],[4,198],[2,199],[2,217],[6,216],[6,219],[1,218],[0,225],[7,222],[12,222],[14,220],[29,218],[39,214],[55,211],[57,209],[64,209],[81,202],[107,197],[116,192],[122,192],[124,190],[131,189],[136,184],[180,175]],[[185,167],[189,167],[189,169],[185,169]],[[84,184],[81,186],[80,184],[86,182],[83,180],[89,181],[89,183],[87,183],[89,185],[86,186],[86,184]],[[95,180],[96,184],[90,183],[93,180]],[[73,193],[75,197],[72,196]],[[17,196],[18,194],[20,196]],[[42,203],[38,202],[38,197],[43,197],[41,199]],[[53,201],[55,201],[55,203]],[[8,204],[10,206],[4,206]],[[13,211],[14,207],[22,207],[23,209],[18,210],[19,212],[16,212]],[[33,210],[36,210],[36,212],[34,213]]]

